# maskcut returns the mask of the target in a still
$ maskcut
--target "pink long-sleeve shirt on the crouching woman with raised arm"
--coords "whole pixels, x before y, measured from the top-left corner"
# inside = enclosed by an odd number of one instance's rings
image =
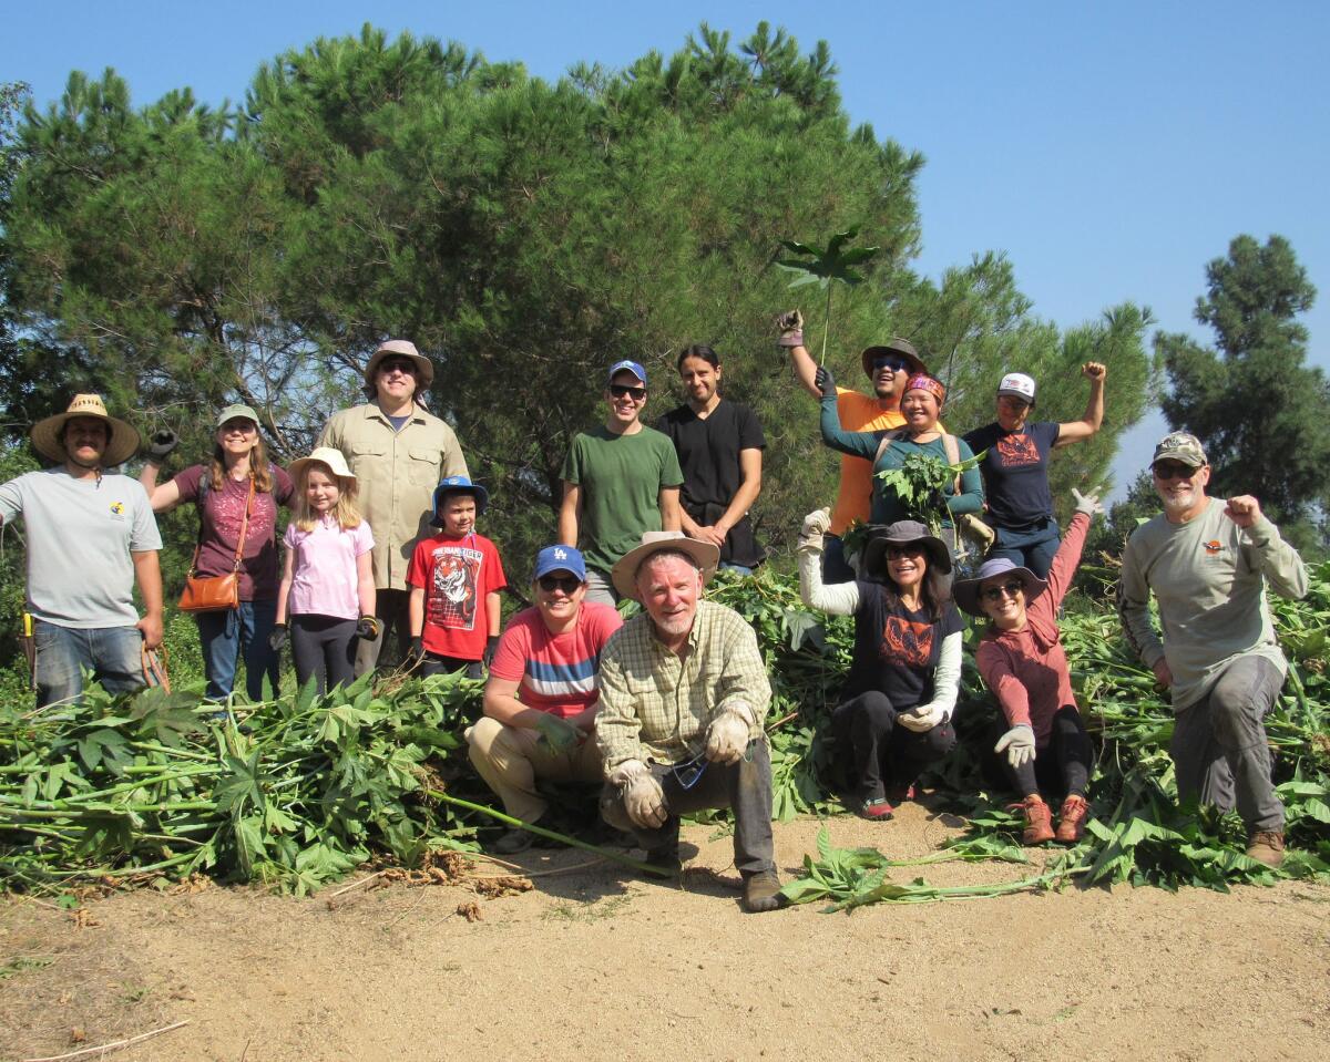
[[[990,629],[975,653],[979,674],[998,695],[1008,724],[1031,727],[1036,746],[1048,744],[1059,708],[1076,708],[1067,653],[1057,629],[1057,607],[1080,564],[1088,530],[1088,516],[1072,517],[1048,570],[1048,589],[1025,607],[1025,626],[1021,630]]]

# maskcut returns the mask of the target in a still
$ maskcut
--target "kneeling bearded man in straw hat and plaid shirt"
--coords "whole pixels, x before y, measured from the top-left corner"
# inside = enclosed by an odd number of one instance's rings
[[[644,611],[609,639],[600,663],[596,742],[601,815],[630,829],[648,863],[678,868],[678,816],[734,809],[743,908],[781,905],[771,844],[771,700],[753,629],[702,601],[720,550],[682,532],[646,532],[614,565],[614,589]]]

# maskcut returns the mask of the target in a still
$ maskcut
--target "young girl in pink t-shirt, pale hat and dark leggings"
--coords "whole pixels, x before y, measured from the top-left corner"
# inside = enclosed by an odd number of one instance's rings
[[[340,451],[321,447],[291,463],[295,517],[282,537],[286,565],[277,591],[271,645],[287,631],[295,678],[322,694],[354,675],[355,639],[378,637],[374,618],[374,534],[355,508],[355,476]],[[290,626],[289,626],[290,625]]]

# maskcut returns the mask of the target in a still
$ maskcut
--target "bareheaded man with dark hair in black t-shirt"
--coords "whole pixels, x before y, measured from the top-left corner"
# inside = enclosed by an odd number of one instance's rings
[[[746,405],[717,393],[721,362],[710,347],[688,347],[678,375],[688,401],[656,427],[674,443],[684,471],[684,533],[720,548],[721,568],[749,574],[766,557],[747,514],[762,489],[762,425]]]

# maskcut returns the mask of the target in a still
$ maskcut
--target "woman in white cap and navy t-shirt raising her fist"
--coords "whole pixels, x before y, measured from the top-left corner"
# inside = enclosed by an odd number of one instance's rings
[[[1085,416],[1063,424],[1031,421],[1035,381],[1024,372],[1008,372],[998,385],[998,420],[966,435],[975,453],[983,453],[984,522],[994,529],[990,557],[1024,565],[1039,578],[1057,552],[1059,528],[1048,490],[1048,455],[1057,447],[1089,439],[1104,421],[1104,379],[1099,362],[1081,366],[1089,380]]]

